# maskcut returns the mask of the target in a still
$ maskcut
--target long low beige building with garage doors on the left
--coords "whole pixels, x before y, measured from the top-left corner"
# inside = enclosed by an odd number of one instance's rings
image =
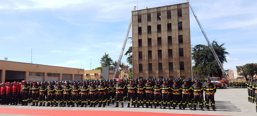
[[[83,79],[84,69],[0,60],[0,82]]]

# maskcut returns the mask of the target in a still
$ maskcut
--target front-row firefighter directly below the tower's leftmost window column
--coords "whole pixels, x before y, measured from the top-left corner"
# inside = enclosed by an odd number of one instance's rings
[[[136,85],[137,108],[139,108],[140,103],[141,103],[141,106],[144,108],[143,94],[145,91],[145,85],[141,84],[141,82],[142,82],[142,79],[139,79],[138,84]]]

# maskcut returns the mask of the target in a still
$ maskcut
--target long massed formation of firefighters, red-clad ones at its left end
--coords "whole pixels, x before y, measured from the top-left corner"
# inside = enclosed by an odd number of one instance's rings
[[[204,83],[190,78],[22,81],[1,84],[0,105],[105,107],[116,104],[115,107],[123,107],[127,102],[128,108],[196,110],[199,104],[201,110],[205,107],[209,111],[211,104],[215,111],[215,92],[210,78]]]

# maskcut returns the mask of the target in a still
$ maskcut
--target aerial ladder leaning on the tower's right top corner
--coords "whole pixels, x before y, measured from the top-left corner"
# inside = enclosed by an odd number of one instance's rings
[[[218,58],[218,56],[217,56],[216,52],[214,51],[213,47],[211,46],[211,43],[210,43],[210,41],[209,41],[207,35],[205,34],[204,29],[203,29],[203,27],[202,27],[200,21],[198,20],[196,14],[195,14],[195,11],[193,10],[193,7],[191,6],[189,0],[187,0],[187,2],[189,3],[190,9],[192,10],[192,12],[193,12],[193,14],[194,14],[194,16],[195,16],[195,19],[196,19],[196,21],[197,21],[197,23],[198,23],[200,29],[202,30],[202,33],[203,33],[203,35],[204,35],[204,37],[205,37],[205,39],[206,39],[206,41],[207,41],[207,43],[208,43],[209,48],[211,49],[211,52],[213,53],[213,55],[214,55],[216,61],[218,62],[219,66],[220,66],[220,69],[222,70],[222,74],[225,75],[225,77],[228,79],[227,71],[223,68],[223,65],[222,65],[222,63],[220,62],[220,59]]]

